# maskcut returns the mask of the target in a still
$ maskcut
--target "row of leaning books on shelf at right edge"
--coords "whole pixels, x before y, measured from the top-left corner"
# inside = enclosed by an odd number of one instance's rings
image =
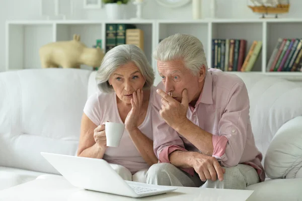
[[[278,38],[266,71],[296,72],[302,67],[302,39]]]

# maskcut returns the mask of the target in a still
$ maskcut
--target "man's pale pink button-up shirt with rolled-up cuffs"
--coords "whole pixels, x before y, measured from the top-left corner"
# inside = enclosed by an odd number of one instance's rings
[[[157,87],[165,89],[162,82]],[[162,103],[161,97],[157,96],[153,100],[153,107],[159,111]],[[203,91],[195,108],[189,106],[187,118],[212,133],[212,156],[220,161],[222,166],[233,167],[239,163],[251,165],[257,170],[260,181],[264,181],[262,154],[255,145],[249,108],[246,86],[238,76],[209,69]],[[153,129],[154,150],[160,162],[170,163],[169,154],[175,150],[200,152],[156,115],[153,119]],[[193,168],[184,170],[191,174],[194,172]]]

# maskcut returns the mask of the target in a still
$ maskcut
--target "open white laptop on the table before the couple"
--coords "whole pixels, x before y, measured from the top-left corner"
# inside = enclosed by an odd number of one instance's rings
[[[41,155],[73,186],[129,197],[145,197],[177,187],[123,180],[103,159],[41,152]]]

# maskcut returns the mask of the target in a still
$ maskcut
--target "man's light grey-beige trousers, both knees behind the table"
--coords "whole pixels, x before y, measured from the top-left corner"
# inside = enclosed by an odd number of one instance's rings
[[[224,168],[223,181],[207,180],[203,182],[196,172],[194,176],[191,176],[170,163],[157,163],[147,171],[146,183],[204,188],[246,189],[247,186],[259,182],[256,170],[249,165],[238,164],[235,167]]]

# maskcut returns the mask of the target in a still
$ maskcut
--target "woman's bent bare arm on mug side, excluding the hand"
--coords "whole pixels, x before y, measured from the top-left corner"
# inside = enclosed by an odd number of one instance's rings
[[[105,126],[102,125],[105,129]],[[100,127],[100,130],[102,128]],[[100,146],[94,139],[94,131],[98,126],[94,124],[85,113],[82,116],[81,135],[79,140],[78,156],[102,159],[106,151],[106,146]],[[106,145],[106,141],[105,141]]]

